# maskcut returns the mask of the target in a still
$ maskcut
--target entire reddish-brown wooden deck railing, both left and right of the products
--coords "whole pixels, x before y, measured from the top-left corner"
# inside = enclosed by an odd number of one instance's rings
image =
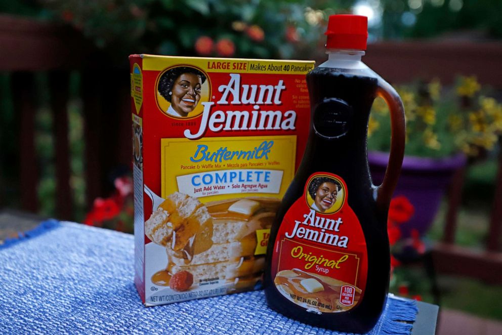
[[[12,73],[14,108],[19,117],[21,197],[27,211],[37,210],[33,118],[33,73],[48,71],[56,140],[57,215],[72,218],[69,186],[68,73],[81,73],[85,120],[86,199],[103,196],[107,173],[117,164],[130,164],[131,131],[129,73],[93,61],[93,50],[75,32],[31,20],[0,16],[0,71]],[[124,57],[127,55],[124,55]],[[384,42],[370,45],[364,61],[391,83],[439,77],[451,83],[458,74],[474,74],[483,84],[502,90],[502,44],[448,41]],[[457,171],[448,197],[442,242],[433,250],[436,270],[502,283],[502,155],[493,210],[484,250],[455,245],[456,215],[465,170]],[[1,182],[1,180],[0,180]],[[1,191],[2,185],[0,185]],[[1,205],[0,197],[0,205]]]

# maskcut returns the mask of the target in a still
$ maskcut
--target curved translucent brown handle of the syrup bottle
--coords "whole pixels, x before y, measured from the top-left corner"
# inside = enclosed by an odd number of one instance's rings
[[[390,110],[391,117],[391,149],[389,162],[385,170],[384,180],[377,187],[377,205],[387,211],[392,193],[396,188],[404,157],[406,139],[406,121],[404,106],[399,94],[384,79],[379,78],[377,94],[382,97]]]

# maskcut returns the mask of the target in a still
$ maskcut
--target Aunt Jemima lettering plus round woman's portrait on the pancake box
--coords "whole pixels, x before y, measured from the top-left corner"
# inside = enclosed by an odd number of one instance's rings
[[[230,73],[228,83],[218,87],[222,95],[217,106],[238,105],[247,110],[226,111],[213,111],[215,102],[208,101],[211,96],[209,79],[200,69],[178,66],[162,72],[157,80],[157,102],[163,102],[163,106],[158,105],[164,114],[192,118],[199,116],[203,108],[198,130],[184,131],[187,139],[201,138],[207,130],[218,133],[296,129],[297,113],[294,110],[283,112],[261,107],[282,105],[282,93],[286,89],[282,79],[275,85],[248,85],[241,84],[240,74]]]

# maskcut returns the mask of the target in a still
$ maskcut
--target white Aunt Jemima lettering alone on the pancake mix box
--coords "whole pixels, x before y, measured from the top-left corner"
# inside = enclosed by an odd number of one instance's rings
[[[244,85],[240,83],[240,74],[231,73],[227,85],[221,85],[222,93],[219,105],[253,105],[253,110],[216,110],[211,112],[213,101],[202,102],[204,110],[200,127],[196,133],[189,129],[183,133],[186,138],[195,140],[209,129],[220,131],[260,131],[260,130],[295,130],[297,113],[288,110],[260,110],[260,105],[281,105],[281,94],[285,90],[282,79],[277,85]]]

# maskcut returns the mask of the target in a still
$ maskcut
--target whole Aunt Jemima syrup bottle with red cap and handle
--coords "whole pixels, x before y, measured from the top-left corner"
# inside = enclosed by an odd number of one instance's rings
[[[367,18],[332,15],[328,60],[307,74],[311,125],[267,249],[268,305],[328,329],[364,333],[377,323],[389,289],[387,212],[404,155],[404,109],[396,91],[361,62]],[[367,128],[373,100],[391,111],[389,164],[372,183]]]

